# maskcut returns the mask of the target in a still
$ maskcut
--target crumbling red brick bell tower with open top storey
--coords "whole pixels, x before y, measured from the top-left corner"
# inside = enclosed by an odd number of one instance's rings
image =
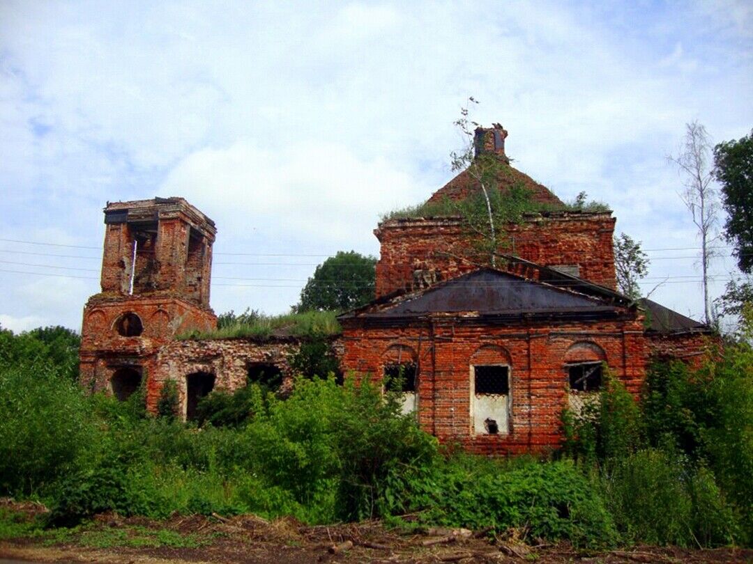
[[[108,202],[102,291],[84,307],[81,383],[127,399],[149,379],[157,349],[217,326],[209,308],[215,223],[182,198]],[[154,396],[154,397],[153,397]]]

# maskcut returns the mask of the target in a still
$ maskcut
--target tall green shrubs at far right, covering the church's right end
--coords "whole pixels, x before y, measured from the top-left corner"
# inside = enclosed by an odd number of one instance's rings
[[[639,404],[607,379],[566,411],[563,453],[596,468],[624,541],[682,546],[753,541],[753,352],[651,366]],[[640,408],[640,409],[639,409]]]

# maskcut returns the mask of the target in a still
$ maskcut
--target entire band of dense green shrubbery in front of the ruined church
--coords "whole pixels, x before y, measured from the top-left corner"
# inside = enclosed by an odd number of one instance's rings
[[[41,499],[52,524],[110,509],[308,523],[412,514],[583,547],[751,544],[751,371],[746,344],[700,371],[655,365],[639,403],[607,376],[582,417],[564,415],[565,446],[547,462],[438,450],[398,396],[348,379],[301,377],[286,399],[258,384],[211,394],[197,426],[172,417],[169,394],[153,417],[142,390],[119,403],[44,359],[6,362],[0,495]]]

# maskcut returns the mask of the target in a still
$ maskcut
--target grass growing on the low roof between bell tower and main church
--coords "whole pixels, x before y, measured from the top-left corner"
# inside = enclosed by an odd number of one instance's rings
[[[242,314],[228,311],[218,317],[217,329],[192,331],[178,335],[178,340],[201,341],[229,338],[270,338],[292,336],[301,338],[327,337],[342,332],[334,311],[306,311],[300,314],[266,315],[248,309]]]

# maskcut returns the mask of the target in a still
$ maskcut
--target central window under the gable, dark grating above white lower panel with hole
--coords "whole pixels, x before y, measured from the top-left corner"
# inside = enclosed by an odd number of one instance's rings
[[[509,432],[510,367],[507,365],[473,365],[471,411],[477,435]]]

